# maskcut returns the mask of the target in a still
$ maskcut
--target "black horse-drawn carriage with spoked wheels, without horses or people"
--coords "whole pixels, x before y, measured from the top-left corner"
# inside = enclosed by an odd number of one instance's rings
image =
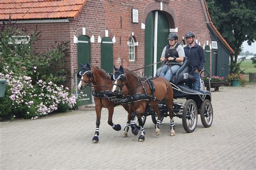
[[[198,115],[200,115],[201,122],[205,128],[209,128],[213,122],[213,108],[211,104],[211,91],[205,90],[204,81],[203,90],[197,91],[190,88],[191,82],[194,81],[194,77],[189,74],[193,70],[191,65],[188,65],[188,60],[185,60],[183,65],[178,69],[176,75],[174,75],[170,81],[173,88],[173,116],[181,118],[183,128],[186,132],[191,133],[196,129],[198,122]],[[207,70],[203,70],[200,73],[201,80],[203,78],[209,78],[210,85],[210,74]],[[211,88],[210,88],[211,89]],[[124,101],[124,100],[121,100]],[[114,99],[115,103],[119,103],[118,98]],[[160,121],[162,122],[164,117],[169,116],[169,111],[166,104],[159,103],[158,108],[161,111]],[[143,125],[146,122],[147,116],[151,116],[152,122],[157,124],[156,112],[147,107],[142,117]],[[136,125],[139,127],[138,120]]]

